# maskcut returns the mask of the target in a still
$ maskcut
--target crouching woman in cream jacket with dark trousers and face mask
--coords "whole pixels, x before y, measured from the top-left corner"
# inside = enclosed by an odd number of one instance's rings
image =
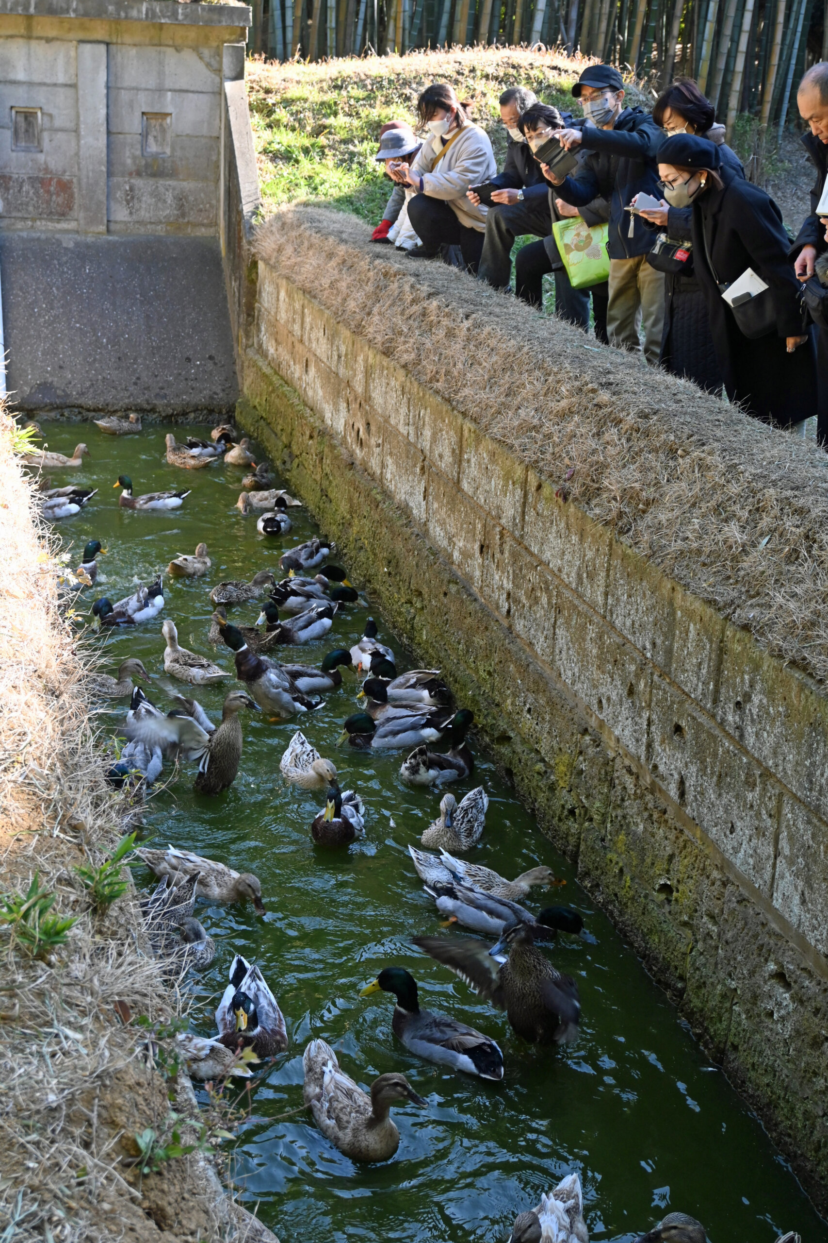
[[[467,103],[451,86],[434,82],[417,99],[420,127],[426,133],[417,158],[398,179],[412,186],[408,221],[422,245],[410,259],[437,259],[442,246],[459,245],[469,272],[477,272],[485,236],[488,208],[472,203],[467,190],[484,185],[498,170],[488,134],[472,121]]]

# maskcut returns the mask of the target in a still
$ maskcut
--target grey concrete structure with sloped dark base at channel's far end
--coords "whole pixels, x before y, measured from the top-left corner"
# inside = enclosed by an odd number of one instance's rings
[[[232,408],[223,222],[235,143],[242,181],[251,165],[256,179],[250,17],[233,4],[0,0],[0,278],[24,409]]]

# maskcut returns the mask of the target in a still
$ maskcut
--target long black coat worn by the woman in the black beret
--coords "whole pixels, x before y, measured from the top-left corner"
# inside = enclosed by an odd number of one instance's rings
[[[721,168],[721,179],[724,189],[710,186],[694,203],[691,224],[694,270],[708,303],[714,348],[730,400],[785,428],[816,413],[817,375],[811,342],[793,354],[786,349],[786,337],[802,334],[802,310],[782,214],[763,190],[731,168]],[[716,278],[735,281],[747,267],[770,287],[776,308],[776,332],[758,341],[742,336],[716,285]]]

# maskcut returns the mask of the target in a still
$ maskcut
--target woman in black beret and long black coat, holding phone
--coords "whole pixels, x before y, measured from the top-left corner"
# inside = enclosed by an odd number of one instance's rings
[[[694,271],[727,397],[773,426],[801,423],[817,409],[816,362],[780,209],[706,138],[674,134],[657,159],[665,205],[690,209]],[[736,281],[755,293],[731,295],[731,307],[724,295]]]

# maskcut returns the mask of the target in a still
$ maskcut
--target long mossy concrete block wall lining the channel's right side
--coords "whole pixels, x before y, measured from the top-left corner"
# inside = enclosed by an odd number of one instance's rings
[[[828,1204],[828,699],[259,262],[238,420]]]

